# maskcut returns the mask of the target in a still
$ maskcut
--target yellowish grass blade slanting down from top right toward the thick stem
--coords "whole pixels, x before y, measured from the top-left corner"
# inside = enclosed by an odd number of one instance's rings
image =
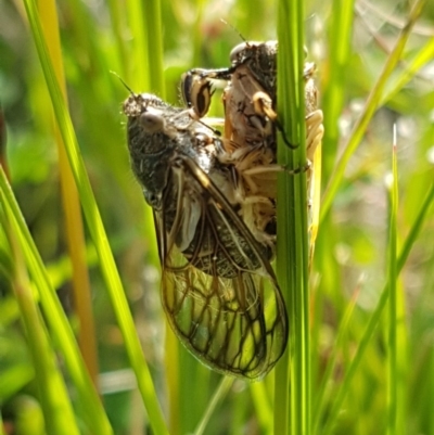
[[[320,214],[320,221],[323,220],[324,216],[329,212],[333,197],[336,194],[336,191],[342,182],[342,179],[344,177],[345,168],[348,164],[349,158],[354,154],[354,152],[357,150],[357,146],[359,145],[362,136],[365,135],[365,131],[368,127],[369,121],[371,120],[373,114],[375,113],[376,107],[379,106],[381,102],[381,98],[383,94],[383,90],[385,87],[385,84],[395,69],[397,63],[399,62],[399,59],[401,56],[401,53],[404,51],[404,48],[406,46],[406,42],[411,34],[411,29],[413,25],[416,24],[417,20],[419,18],[420,14],[422,13],[422,10],[426,3],[426,0],[417,0],[410,11],[408,22],[406,26],[403,28],[403,30],[399,34],[399,37],[395,43],[394,49],[392,50],[390,56],[387,57],[386,63],[384,64],[383,71],[380,74],[379,79],[376,80],[371,93],[368,97],[368,100],[365,104],[363,111],[361,112],[359,118],[357,119],[349,138],[347,140],[347,143],[345,144],[344,152],[337,162],[337,165],[334,169],[333,176],[329,181],[329,184],[326,189],[326,192],[323,194],[323,201],[322,201],[322,208],[321,208],[321,214]]]

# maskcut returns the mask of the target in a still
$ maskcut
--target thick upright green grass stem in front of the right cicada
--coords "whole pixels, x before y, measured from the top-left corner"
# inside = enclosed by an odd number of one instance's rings
[[[279,138],[278,163],[294,169],[306,162],[304,106],[304,2],[278,3],[278,113],[291,144]],[[310,434],[309,297],[306,174],[278,179],[277,276],[289,303],[289,355],[276,368],[275,432]],[[291,431],[289,427],[291,421]]]

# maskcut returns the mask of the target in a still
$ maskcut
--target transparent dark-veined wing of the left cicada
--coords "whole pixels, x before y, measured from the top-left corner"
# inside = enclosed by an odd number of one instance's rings
[[[186,214],[186,201],[177,204],[171,219],[177,228],[167,228],[164,210],[155,215],[164,253],[163,306],[182,344],[203,363],[225,374],[259,379],[276,364],[288,341],[286,310],[276,277],[218,188],[194,163],[184,170],[187,179],[203,189],[201,216],[194,221],[200,243],[187,255],[178,247],[182,234],[177,232],[191,228],[186,219],[196,214]],[[178,192],[177,197],[189,195]]]

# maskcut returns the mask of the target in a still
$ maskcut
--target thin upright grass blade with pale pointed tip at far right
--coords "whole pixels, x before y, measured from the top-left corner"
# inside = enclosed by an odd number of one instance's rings
[[[388,230],[388,345],[387,345],[387,434],[397,434],[397,268],[396,242],[398,213],[398,174],[396,163],[396,126],[392,151],[392,182],[390,182],[390,230]]]

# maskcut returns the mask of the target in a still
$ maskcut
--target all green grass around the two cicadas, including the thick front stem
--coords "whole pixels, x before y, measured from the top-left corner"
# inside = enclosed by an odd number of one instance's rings
[[[434,435],[429,2],[39,3],[0,3],[0,434]],[[290,345],[252,384],[166,329],[116,77],[179,105],[180,75],[228,66],[239,33],[279,38],[294,142],[308,48],[326,128],[311,264],[305,174],[279,179]]]

